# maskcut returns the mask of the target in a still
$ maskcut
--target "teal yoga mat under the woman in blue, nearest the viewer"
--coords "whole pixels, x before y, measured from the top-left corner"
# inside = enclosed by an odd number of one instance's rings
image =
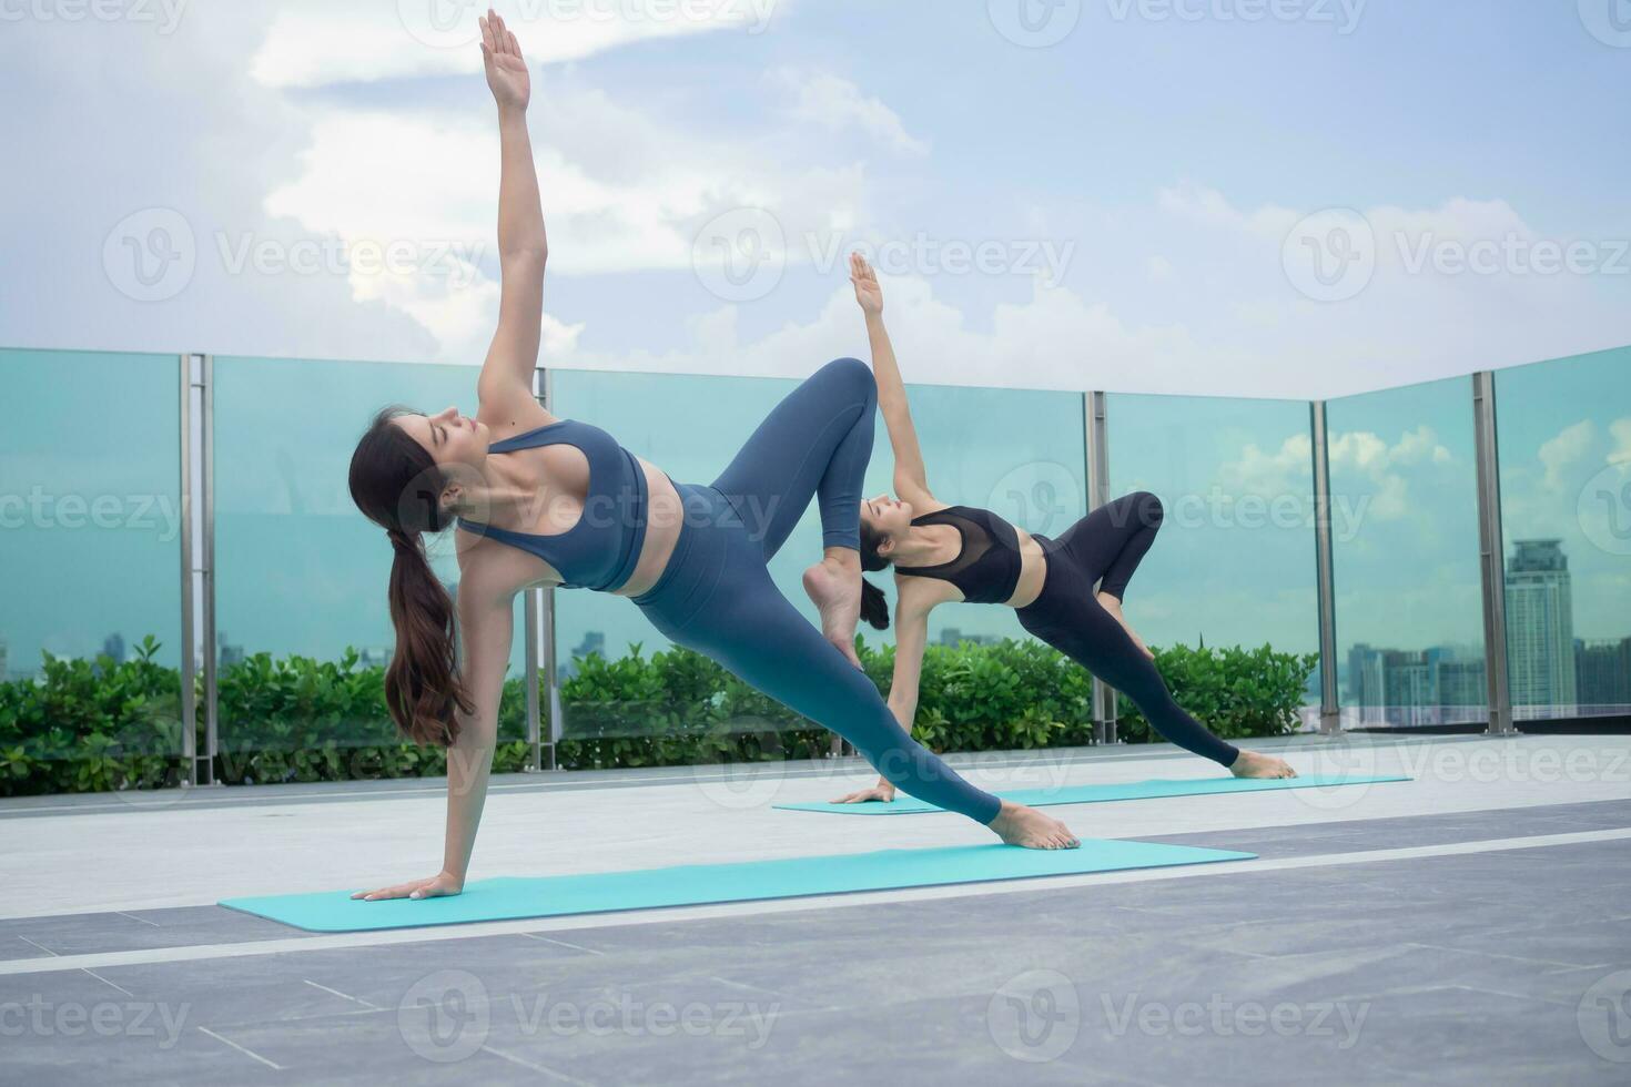
[[[281,921],[308,932],[414,929],[471,921],[561,918],[610,909],[654,909],[760,898],[801,898],[902,887],[985,883],[1083,872],[1160,869],[1179,864],[1251,860],[1251,852],[1161,846],[1143,841],[1083,839],[1080,849],[949,846],[882,849],[835,857],[786,857],[739,864],[685,864],[639,872],[499,877],[476,880],[449,898],[395,898],[365,903],[351,891],[223,898],[222,906]]]

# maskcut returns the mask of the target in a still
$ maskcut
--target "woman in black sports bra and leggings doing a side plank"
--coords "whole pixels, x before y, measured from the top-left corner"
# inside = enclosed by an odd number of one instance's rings
[[[860,256],[850,256],[855,298],[866,315],[877,404],[895,451],[895,492],[861,504],[861,567],[894,566],[900,595],[895,675],[889,709],[912,730],[928,614],[953,601],[1006,605],[1019,624],[1122,691],[1173,743],[1227,766],[1236,777],[1295,777],[1284,761],[1241,751],[1186,714],[1161,681],[1143,640],[1122,618],[1127,582],[1161,525],[1161,502],[1140,491],[1093,510],[1059,539],[1014,528],[990,510],[946,505],[930,494],[907,404],[905,383],[884,329],[884,292]],[[1098,593],[1093,583],[1099,582]],[[889,605],[863,585],[861,618],[882,629]],[[840,802],[894,800],[887,779]]]

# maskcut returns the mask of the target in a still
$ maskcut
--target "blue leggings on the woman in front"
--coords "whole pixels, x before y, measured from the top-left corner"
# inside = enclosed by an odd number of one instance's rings
[[[855,745],[902,792],[980,823],[1001,802],[913,740],[877,688],[770,579],[767,562],[814,497],[829,548],[858,548],[861,477],[877,386],[838,359],[788,394],[708,487],[675,484],[685,520],[674,556],[634,603],[669,640]]]

